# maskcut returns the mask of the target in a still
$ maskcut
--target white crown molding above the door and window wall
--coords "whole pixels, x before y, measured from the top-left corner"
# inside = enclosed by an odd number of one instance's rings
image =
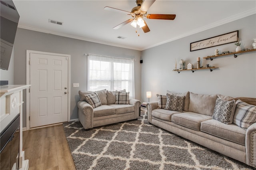
[[[44,30],[44,29],[41,29],[41,28],[35,28],[35,27],[26,26],[26,25],[22,25],[22,24],[18,24],[18,28],[22,28],[22,29],[26,29],[26,30],[32,30],[32,31],[36,31],[36,32],[43,32],[43,33],[46,33],[46,34],[53,34],[53,35],[56,35],[56,36],[62,36],[62,37],[67,37],[67,38],[74,38],[74,39],[77,39],[77,40],[83,40],[83,41],[87,41],[87,42],[94,42],[94,43],[100,43],[100,44],[111,45],[111,46],[115,46],[115,47],[122,47],[122,48],[135,49],[135,50],[141,51],[140,48],[136,48],[136,47],[132,47],[132,46],[128,46],[128,45],[105,42],[105,41],[95,40],[95,39],[86,38],[86,37],[82,37],[82,36],[75,36],[75,35],[72,35],[72,34],[52,32],[52,31],[49,31],[49,30]]]

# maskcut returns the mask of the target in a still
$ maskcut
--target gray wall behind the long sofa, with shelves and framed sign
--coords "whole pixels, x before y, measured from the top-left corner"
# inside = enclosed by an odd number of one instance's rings
[[[218,57],[210,61],[202,59],[214,55],[214,50],[232,51],[234,43],[200,49],[190,52],[190,43],[239,30],[242,48],[252,49],[256,38],[256,15],[218,26],[179,40],[165,43],[142,51],[142,102],[148,101],[146,91],[152,91],[150,101],[156,101],[156,94],[166,94],[166,90],[175,92],[191,91],[200,94],[230,95],[233,97],[256,97],[256,52],[241,53],[237,58],[232,55]],[[202,64],[210,64],[218,69],[172,71],[180,59],[196,67],[196,57]]]

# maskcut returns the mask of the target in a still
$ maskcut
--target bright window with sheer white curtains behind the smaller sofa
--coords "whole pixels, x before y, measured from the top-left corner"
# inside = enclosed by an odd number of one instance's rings
[[[122,90],[134,98],[134,60],[88,55],[87,90]]]

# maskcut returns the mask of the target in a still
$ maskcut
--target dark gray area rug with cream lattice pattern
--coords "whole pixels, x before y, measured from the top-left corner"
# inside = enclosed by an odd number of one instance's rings
[[[252,167],[138,120],[85,130],[63,123],[76,170],[249,170]]]

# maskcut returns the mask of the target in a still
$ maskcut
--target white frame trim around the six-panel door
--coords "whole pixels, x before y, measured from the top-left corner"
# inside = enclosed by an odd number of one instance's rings
[[[33,51],[33,50],[26,50],[26,84],[30,84],[30,53],[37,53],[37,54],[45,54],[45,55],[58,55],[58,56],[65,56],[68,57],[68,121],[70,121],[70,55],[68,54],[58,54],[58,53],[48,53],[43,51]],[[30,129],[30,93],[29,90],[26,90],[26,130]]]

